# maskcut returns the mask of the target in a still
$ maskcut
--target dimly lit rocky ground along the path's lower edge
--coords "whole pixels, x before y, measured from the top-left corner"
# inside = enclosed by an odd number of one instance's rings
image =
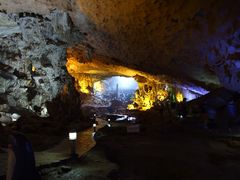
[[[110,162],[101,147],[94,147],[77,161],[68,161],[40,171],[42,180],[104,180],[118,166]]]

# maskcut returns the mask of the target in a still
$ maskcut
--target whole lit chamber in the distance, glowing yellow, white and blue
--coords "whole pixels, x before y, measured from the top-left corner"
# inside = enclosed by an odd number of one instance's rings
[[[98,56],[91,60],[78,58],[68,49],[67,70],[75,79],[83,105],[116,107],[118,104],[118,108],[145,111],[161,102],[181,102],[183,98],[189,101],[208,92],[164,75],[154,76],[105,62]]]

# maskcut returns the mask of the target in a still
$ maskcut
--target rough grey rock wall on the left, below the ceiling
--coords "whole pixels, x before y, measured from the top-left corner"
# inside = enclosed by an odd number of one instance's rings
[[[0,13],[0,104],[37,111],[55,98],[64,84],[66,47],[81,40],[68,13]]]

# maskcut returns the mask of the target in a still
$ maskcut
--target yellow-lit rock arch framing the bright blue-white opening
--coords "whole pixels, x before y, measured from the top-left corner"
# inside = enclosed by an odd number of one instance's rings
[[[67,70],[75,79],[75,87],[80,93],[91,95],[93,87],[101,92],[103,85],[101,80],[112,76],[133,77],[138,82],[139,89],[135,92],[132,104],[128,105],[128,109],[148,110],[154,106],[156,102],[164,101],[169,93],[166,84],[168,79],[164,76],[153,76],[138,70],[127,67],[103,63],[97,58],[90,61],[79,60],[71,53],[68,54]],[[177,100],[180,102],[183,95],[178,93]]]

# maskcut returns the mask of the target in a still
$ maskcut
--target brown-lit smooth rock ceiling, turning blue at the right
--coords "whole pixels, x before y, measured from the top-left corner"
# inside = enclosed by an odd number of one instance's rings
[[[233,0],[0,0],[1,10],[69,13],[108,63],[240,91],[240,13]],[[76,41],[77,42],[77,41]],[[104,59],[103,59],[104,61]]]

